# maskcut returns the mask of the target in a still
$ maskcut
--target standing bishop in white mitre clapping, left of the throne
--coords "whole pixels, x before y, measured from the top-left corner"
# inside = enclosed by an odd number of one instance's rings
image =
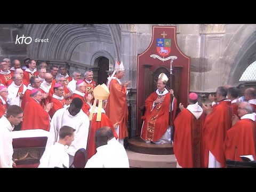
[[[127,122],[128,122],[128,106],[126,102],[127,86],[129,82],[121,83],[120,79],[124,76],[124,65],[115,62],[115,70],[111,77],[108,78],[107,86],[109,87],[108,104],[106,107],[106,115],[111,122],[118,124],[116,133],[118,141],[124,145],[124,138],[128,137]]]

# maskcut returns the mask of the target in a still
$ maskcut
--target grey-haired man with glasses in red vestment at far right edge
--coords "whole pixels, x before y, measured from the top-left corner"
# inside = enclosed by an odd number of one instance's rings
[[[233,126],[227,131],[225,156],[231,161],[241,161],[239,156],[252,155],[256,159],[256,123],[252,106],[242,102],[238,107],[238,119],[233,116]]]

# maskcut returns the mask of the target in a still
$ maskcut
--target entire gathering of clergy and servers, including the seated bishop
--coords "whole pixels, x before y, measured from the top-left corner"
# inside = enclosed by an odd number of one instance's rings
[[[75,70],[71,77],[66,65],[49,68],[29,58],[24,63],[0,62],[0,167],[15,167],[10,132],[36,129],[49,133],[39,167],[70,167],[81,148],[89,159],[85,167],[129,167],[123,141],[130,82],[120,81],[123,62],[116,61],[101,85],[93,81],[91,70],[84,78]],[[160,74],[157,90],[145,101],[142,140],[173,144],[177,167],[227,167],[227,159],[256,158],[255,89],[249,87],[239,97],[237,87],[219,86],[207,105],[199,105],[191,92],[187,105],[178,103],[167,81]]]

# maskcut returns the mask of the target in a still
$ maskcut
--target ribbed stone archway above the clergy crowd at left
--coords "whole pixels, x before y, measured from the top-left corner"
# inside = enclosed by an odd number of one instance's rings
[[[105,47],[103,51],[111,50],[109,52],[113,58],[121,57],[119,24],[25,24],[23,32],[33,39],[49,38],[49,43],[31,43],[28,46],[28,57],[36,60],[74,61],[75,65],[89,66],[93,53],[86,55],[89,58],[86,62],[85,55],[79,53],[77,47],[86,53],[92,46],[97,51],[101,47]]]

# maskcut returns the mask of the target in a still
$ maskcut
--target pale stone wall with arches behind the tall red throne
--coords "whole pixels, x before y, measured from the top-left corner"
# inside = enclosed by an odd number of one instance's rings
[[[97,57],[107,57],[110,69],[115,59],[127,69],[123,81],[136,89],[137,55],[151,42],[152,26],[177,26],[180,50],[191,58],[190,91],[213,92],[223,84],[238,85],[238,79],[256,60],[256,25],[244,24],[2,24],[0,59],[31,57],[69,63],[71,70],[98,67]],[[49,43],[15,44],[16,35],[49,38]]]

